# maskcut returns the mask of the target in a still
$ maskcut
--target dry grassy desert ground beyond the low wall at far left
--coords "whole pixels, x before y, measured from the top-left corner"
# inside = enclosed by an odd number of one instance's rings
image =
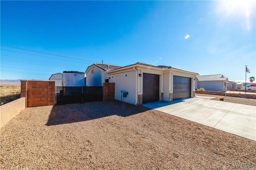
[[[20,85],[2,85],[0,86],[1,105],[12,102],[20,98]]]

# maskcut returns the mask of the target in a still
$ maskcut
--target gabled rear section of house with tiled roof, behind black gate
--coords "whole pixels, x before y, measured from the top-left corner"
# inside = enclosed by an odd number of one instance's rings
[[[108,64],[92,64],[86,69],[86,86],[102,86],[102,83],[109,81],[109,75],[106,71],[120,68]]]

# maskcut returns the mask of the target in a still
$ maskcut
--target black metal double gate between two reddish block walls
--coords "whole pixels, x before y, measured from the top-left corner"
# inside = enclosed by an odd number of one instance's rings
[[[102,100],[102,86],[56,86],[56,105]]]

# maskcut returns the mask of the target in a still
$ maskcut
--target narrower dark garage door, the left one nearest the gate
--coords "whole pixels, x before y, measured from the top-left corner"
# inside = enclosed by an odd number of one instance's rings
[[[142,103],[159,101],[159,75],[143,74]]]

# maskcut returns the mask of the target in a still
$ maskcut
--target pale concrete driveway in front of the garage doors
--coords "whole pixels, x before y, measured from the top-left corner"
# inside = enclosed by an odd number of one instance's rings
[[[196,96],[142,106],[256,141],[256,107]]]

